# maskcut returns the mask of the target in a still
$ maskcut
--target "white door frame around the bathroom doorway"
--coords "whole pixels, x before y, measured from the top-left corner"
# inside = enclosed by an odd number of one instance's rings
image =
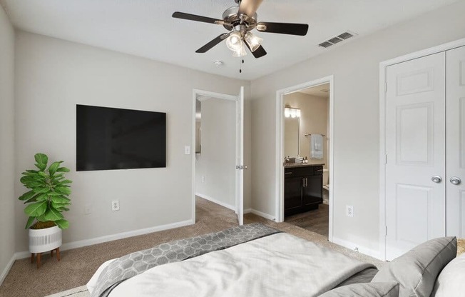
[[[303,84],[290,86],[276,91],[276,193],[275,193],[275,218],[277,222],[284,221],[284,96],[286,94],[312,88],[329,83],[329,232],[328,240],[332,241],[332,213],[334,206],[334,75],[325,76],[321,79],[307,81]]]

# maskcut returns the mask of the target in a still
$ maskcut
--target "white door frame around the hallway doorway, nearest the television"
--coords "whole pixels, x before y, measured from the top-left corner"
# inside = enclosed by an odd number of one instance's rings
[[[191,149],[190,149],[190,154],[191,154],[191,161],[192,161],[192,181],[191,181],[191,193],[192,193],[192,220],[193,223],[195,223],[195,100],[197,99],[197,96],[205,96],[205,97],[211,97],[214,99],[223,99],[223,100],[229,100],[229,101],[235,101],[237,102],[237,96],[235,95],[229,95],[229,94],[222,94],[222,93],[215,93],[212,91],[205,91],[205,90],[200,90],[200,89],[193,89],[193,101],[192,101],[192,140],[191,140]],[[237,114],[237,105],[236,105],[236,114]],[[237,142],[237,139],[236,139]],[[236,152],[237,155],[237,152]],[[236,157],[235,157],[236,158]],[[235,163],[237,161],[235,160]],[[235,208],[237,209],[237,199],[235,200]]]

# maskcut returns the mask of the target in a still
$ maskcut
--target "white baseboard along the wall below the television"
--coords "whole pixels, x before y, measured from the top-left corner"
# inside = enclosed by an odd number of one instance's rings
[[[157,232],[157,231],[163,231],[163,230],[168,230],[168,229],[173,229],[173,228],[178,228],[178,227],[184,227],[184,226],[188,226],[188,225],[193,225],[194,223],[195,223],[195,221],[190,219],[190,220],[187,220],[187,221],[180,221],[180,222],[176,222],[176,223],[168,223],[168,224],[162,225],[162,226],[155,226],[155,227],[150,227],[150,228],[138,229],[138,230],[134,230],[134,231],[116,233],[116,234],[107,235],[107,236],[84,239],[82,241],[73,241],[73,242],[69,242],[69,243],[64,243],[60,247],[60,251],[70,250],[71,248],[82,248],[83,246],[91,246],[91,245],[97,244],[97,243],[103,243],[103,242],[107,242],[107,241],[116,241],[117,239],[123,239],[123,238],[132,237],[132,236],[138,236],[138,235],[153,233],[153,232]],[[29,251],[21,251],[21,252],[15,253],[14,255],[15,255],[16,259],[22,259],[22,258],[28,258],[29,256],[31,256],[31,253],[29,253]]]

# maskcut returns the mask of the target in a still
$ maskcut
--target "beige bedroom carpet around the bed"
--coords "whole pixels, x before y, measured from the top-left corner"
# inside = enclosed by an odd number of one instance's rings
[[[84,248],[62,251],[61,261],[44,254],[42,266],[37,269],[29,258],[16,261],[4,283],[0,286],[0,296],[43,297],[85,285],[101,263],[159,243],[179,238],[220,231],[237,224],[235,213],[228,208],[198,198],[195,225],[125,238],[118,241],[100,243]],[[262,222],[282,231],[306,238],[310,241],[340,251],[361,261],[382,265],[382,261],[350,251],[342,246],[329,243],[325,236],[293,226],[290,223],[275,223],[251,213],[245,215],[245,223]],[[63,296],[63,295],[58,295]],[[78,296],[78,295],[71,295]],[[86,296],[86,295],[80,295]]]

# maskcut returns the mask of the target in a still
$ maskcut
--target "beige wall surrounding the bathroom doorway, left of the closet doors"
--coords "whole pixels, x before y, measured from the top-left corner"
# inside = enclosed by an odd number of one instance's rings
[[[464,11],[460,1],[252,81],[252,208],[275,216],[276,91],[334,75],[334,237],[379,252],[379,62],[464,38]]]

